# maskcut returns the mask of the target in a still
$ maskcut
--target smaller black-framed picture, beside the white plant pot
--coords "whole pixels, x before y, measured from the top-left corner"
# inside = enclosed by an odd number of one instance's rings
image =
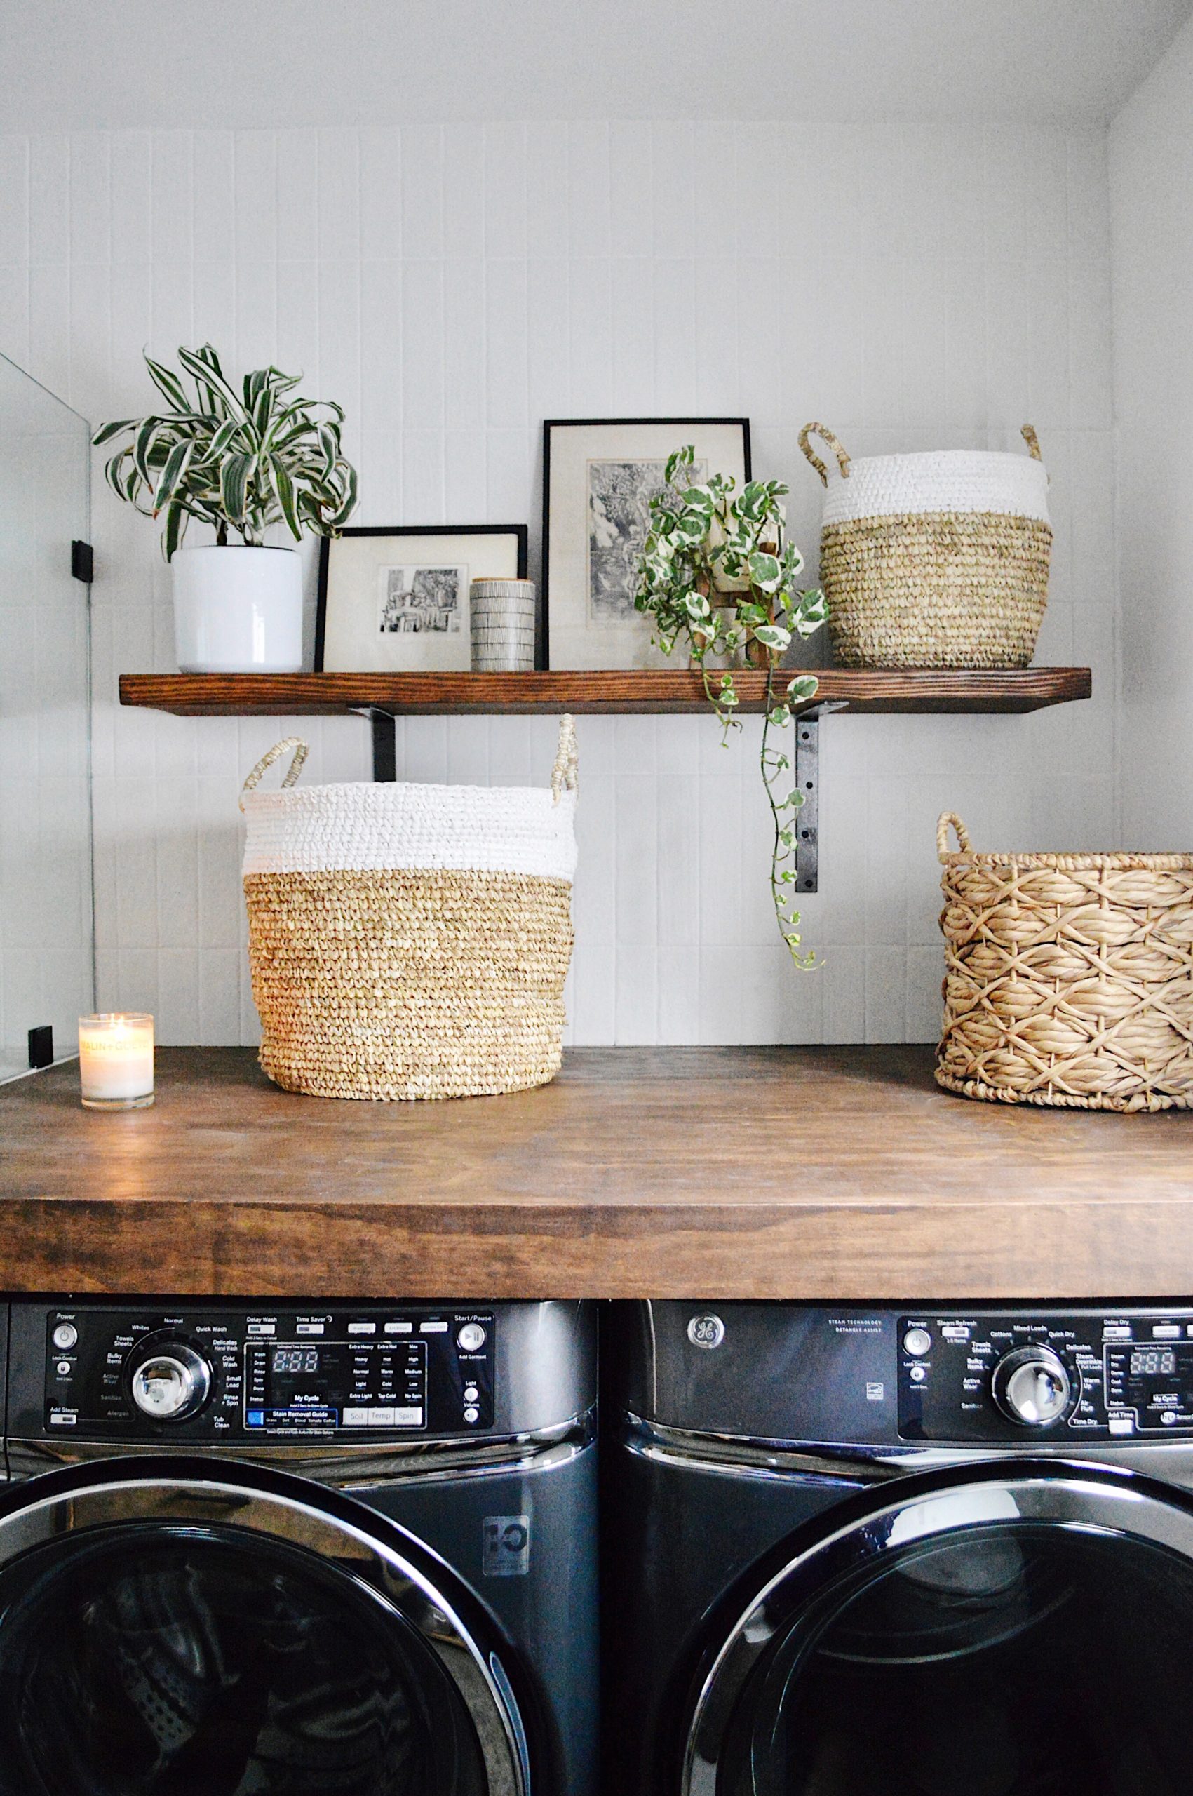
[[[526,539],[526,524],[354,524],[323,537],[314,672],[467,670],[471,582],[525,580]]]

